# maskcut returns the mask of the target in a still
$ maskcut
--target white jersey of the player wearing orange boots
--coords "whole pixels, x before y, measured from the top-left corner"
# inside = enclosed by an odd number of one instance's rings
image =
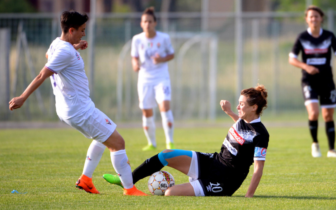
[[[84,61],[72,44],[57,37],[48,51],[47,69],[55,95],[57,115],[69,119],[94,106]]]

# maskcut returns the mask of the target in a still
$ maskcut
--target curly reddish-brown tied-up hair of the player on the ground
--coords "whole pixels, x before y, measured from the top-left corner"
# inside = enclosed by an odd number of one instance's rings
[[[262,111],[267,108],[267,90],[265,86],[257,84],[255,88],[244,89],[240,92],[241,95],[247,97],[249,106],[257,105],[256,114],[260,116]]]

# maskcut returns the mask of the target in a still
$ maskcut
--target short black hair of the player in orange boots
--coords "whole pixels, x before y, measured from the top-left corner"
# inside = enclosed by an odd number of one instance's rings
[[[61,29],[62,32],[68,33],[70,28],[78,28],[85,24],[89,17],[83,12],[79,13],[74,10],[65,11],[61,14]]]

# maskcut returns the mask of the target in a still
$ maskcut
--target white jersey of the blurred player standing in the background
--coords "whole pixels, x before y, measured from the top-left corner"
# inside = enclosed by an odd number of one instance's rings
[[[156,32],[155,37],[147,38],[145,32],[133,36],[131,56],[140,60],[138,82],[156,84],[169,80],[168,62],[153,63],[153,57],[166,57],[174,54],[168,34]]]

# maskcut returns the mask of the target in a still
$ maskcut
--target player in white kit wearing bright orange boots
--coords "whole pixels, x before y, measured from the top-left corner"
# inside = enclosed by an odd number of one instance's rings
[[[22,107],[29,95],[50,77],[59,119],[93,139],[76,187],[88,193],[99,194],[92,183],[92,174],[107,147],[111,153],[112,165],[123,183],[124,195],[145,196],[147,194],[133,185],[125,141],[116,130],[117,125],[95,108],[89,97],[84,61],[77,51],[87,47],[87,42],[81,40],[85,36],[87,20],[85,13],[73,10],[61,14],[62,34],[51,43],[46,53],[47,64],[19,97],[9,101],[9,109]]]

